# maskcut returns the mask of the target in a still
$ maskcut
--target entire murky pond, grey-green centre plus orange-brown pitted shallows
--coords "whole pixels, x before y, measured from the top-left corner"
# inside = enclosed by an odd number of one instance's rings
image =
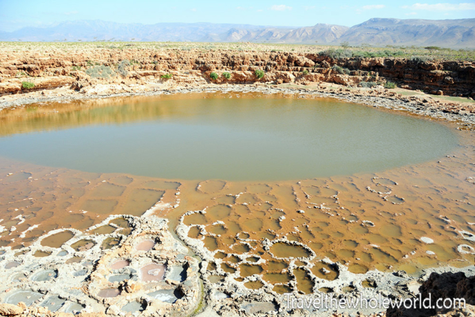
[[[215,252],[224,272],[239,270],[236,279],[251,289],[262,287],[248,281],[257,274],[275,284],[275,292],[288,292],[291,280],[301,292],[311,292],[310,274],[338,278],[335,267],[322,258],[340,261],[353,273],[377,268],[413,274],[435,265],[474,263],[472,132],[328,100],[202,96],[123,99],[114,101],[122,102],[115,106],[111,101],[32,106],[0,113],[0,152],[10,156],[0,158],[0,225],[5,227],[0,247],[28,245],[61,227],[87,229],[109,214],[142,215],[159,203],[154,214],[168,217],[171,229],[184,212],[206,209],[205,214],[184,217],[186,225],[194,225],[188,236]],[[122,129],[127,137],[114,134]],[[355,134],[349,138],[348,131]],[[14,134],[23,132],[28,133]],[[89,136],[92,132],[99,137]],[[131,141],[139,135],[146,140]],[[34,140],[41,146],[33,146]],[[99,141],[123,152],[102,151]],[[137,152],[129,143],[144,148]],[[81,148],[101,157],[87,159],[78,154]],[[54,161],[61,149],[78,156]],[[118,157],[123,161],[107,164]],[[173,157],[176,162],[170,161]],[[129,231],[127,220],[118,218],[89,234]],[[41,244],[59,247],[72,236],[61,232]],[[281,242],[266,249],[264,239]],[[114,245],[111,240],[101,247]],[[144,240],[134,247],[147,251],[153,246],[154,241]],[[85,236],[72,247],[84,251],[94,244]],[[297,267],[292,273],[287,271],[291,262]],[[112,268],[128,264],[117,259]],[[211,262],[209,269],[218,265]],[[164,274],[165,266],[155,263],[140,270],[140,278],[150,282]],[[211,279],[219,283],[222,276]],[[118,292],[103,291],[103,297]]]

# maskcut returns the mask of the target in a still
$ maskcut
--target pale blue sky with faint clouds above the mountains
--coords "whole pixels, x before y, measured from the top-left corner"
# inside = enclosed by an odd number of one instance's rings
[[[475,18],[475,1],[303,1],[303,0],[0,0],[0,30],[43,27],[72,20],[119,23],[239,23],[352,26],[368,19]]]

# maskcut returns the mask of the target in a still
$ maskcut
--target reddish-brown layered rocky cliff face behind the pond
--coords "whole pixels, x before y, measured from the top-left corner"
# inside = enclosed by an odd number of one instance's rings
[[[127,63],[120,64],[123,61]],[[264,70],[264,77],[257,78],[255,70]],[[475,63],[469,61],[330,59],[293,52],[145,49],[0,53],[0,94],[25,91],[22,81],[32,81],[33,89],[71,85],[80,90],[91,83],[161,80],[162,75],[169,73],[173,74],[172,80],[205,83],[211,81],[211,72],[218,74],[215,83],[320,81],[359,85],[394,81],[403,88],[433,94],[475,96]],[[222,72],[229,72],[230,78],[224,78]]]

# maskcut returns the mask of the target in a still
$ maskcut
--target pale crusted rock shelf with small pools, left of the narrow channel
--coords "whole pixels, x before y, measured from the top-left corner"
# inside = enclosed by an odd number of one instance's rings
[[[191,315],[202,297],[198,260],[189,256],[187,247],[171,236],[166,219],[116,215],[94,227],[117,218],[129,222],[132,227],[129,236],[56,229],[21,249],[21,256],[14,255],[19,250],[3,247],[1,303],[19,305],[15,307],[23,307],[21,314],[28,316],[46,311],[114,316]],[[61,232],[74,236],[60,247],[42,245],[42,241]],[[108,238],[118,238],[120,243],[102,249],[103,241]],[[94,245],[72,247],[85,239]],[[153,248],[137,250],[135,246],[143,241],[153,241]],[[51,255],[37,258],[34,254],[39,251]],[[73,258],[78,260],[72,261]],[[144,278],[143,272],[151,278]],[[5,306],[0,305],[0,310],[1,307]]]

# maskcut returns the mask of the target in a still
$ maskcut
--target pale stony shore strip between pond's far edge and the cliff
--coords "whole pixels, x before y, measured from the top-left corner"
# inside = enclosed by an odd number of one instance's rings
[[[112,86],[112,85],[111,85]],[[333,89],[332,89],[333,88]],[[317,96],[334,98],[351,103],[361,103],[375,108],[387,108],[390,110],[410,112],[419,116],[428,116],[434,119],[456,122],[457,130],[475,130],[475,105],[469,103],[444,102],[434,99],[429,95],[403,96],[397,92],[386,89],[355,88],[348,89],[345,86],[336,88],[330,85],[316,85],[313,87],[288,88],[285,85],[198,85],[196,87],[180,87],[170,85],[157,87],[144,85],[140,89],[128,92],[123,88],[102,87],[101,92],[82,94],[74,90],[57,88],[56,90],[43,92],[30,92],[28,94],[15,94],[4,97],[0,101],[0,111],[8,108],[17,108],[32,103],[67,102],[89,99],[104,99],[123,96],[157,96],[160,94],[187,94],[198,92],[257,92],[263,94],[299,94],[301,97]],[[472,109],[473,108],[473,109]]]

